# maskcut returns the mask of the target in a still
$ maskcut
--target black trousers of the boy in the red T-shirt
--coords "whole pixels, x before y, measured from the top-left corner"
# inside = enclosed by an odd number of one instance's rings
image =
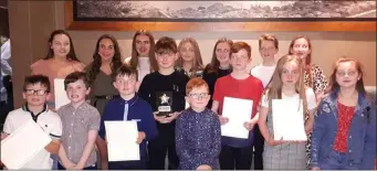
[[[221,170],[250,170],[253,158],[253,147],[233,148],[221,146],[220,169]]]

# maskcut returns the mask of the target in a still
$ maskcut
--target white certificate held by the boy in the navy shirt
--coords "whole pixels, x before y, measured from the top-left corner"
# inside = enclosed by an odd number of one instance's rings
[[[140,160],[136,120],[105,121],[108,161]]]

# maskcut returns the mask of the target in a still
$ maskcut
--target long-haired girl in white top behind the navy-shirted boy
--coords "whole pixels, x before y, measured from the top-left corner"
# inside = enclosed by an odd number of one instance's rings
[[[135,33],[132,56],[127,57],[125,63],[137,70],[139,83],[142,83],[144,76],[157,71],[155,39],[149,31],[140,30]],[[138,87],[139,84],[137,89]]]

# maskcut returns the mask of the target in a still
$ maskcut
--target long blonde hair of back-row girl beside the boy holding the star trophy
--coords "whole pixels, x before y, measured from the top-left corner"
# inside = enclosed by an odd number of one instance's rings
[[[193,58],[193,65],[192,65],[191,72],[197,73],[198,71],[205,70],[199,45],[198,45],[197,41],[192,38],[185,38],[179,42],[179,45],[178,45],[179,57],[177,60],[177,66],[184,67],[184,60],[180,56],[180,49],[182,49],[184,44],[186,44],[186,43],[190,43],[192,45],[193,52],[195,52],[195,58]],[[195,74],[192,74],[192,76],[195,76]]]

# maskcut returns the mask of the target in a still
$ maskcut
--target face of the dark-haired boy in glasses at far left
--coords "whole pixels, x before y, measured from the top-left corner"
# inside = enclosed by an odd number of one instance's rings
[[[36,84],[30,84],[27,86],[27,89],[29,90],[46,90],[46,87],[40,83]],[[36,95],[34,94],[27,94],[24,90],[22,93],[23,98],[27,100],[28,105],[32,106],[43,106],[45,101],[50,98],[50,93],[45,92],[43,95]]]

